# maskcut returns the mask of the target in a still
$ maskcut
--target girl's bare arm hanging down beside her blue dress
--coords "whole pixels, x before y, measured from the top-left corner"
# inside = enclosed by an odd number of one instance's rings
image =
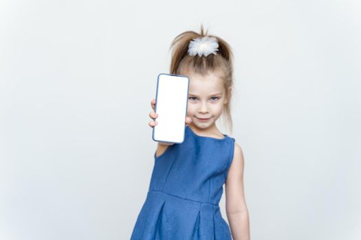
[[[243,189],[243,168],[242,149],[234,143],[233,160],[226,179],[226,213],[234,240],[250,240],[250,220]]]

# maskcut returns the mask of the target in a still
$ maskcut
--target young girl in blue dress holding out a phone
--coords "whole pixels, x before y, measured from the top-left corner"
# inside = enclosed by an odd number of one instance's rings
[[[248,240],[243,153],[215,125],[226,115],[232,129],[232,52],[221,38],[204,34],[203,27],[201,34],[179,34],[171,47],[171,73],[190,79],[184,142],[157,144],[149,191],[131,240]],[[149,117],[158,116],[151,111]],[[223,184],[230,226],[219,211]]]

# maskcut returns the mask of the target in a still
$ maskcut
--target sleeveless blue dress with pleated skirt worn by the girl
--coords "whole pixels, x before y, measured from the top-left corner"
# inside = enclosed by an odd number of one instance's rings
[[[234,139],[199,136],[186,125],[183,143],[168,146],[155,164],[131,240],[227,240],[219,211]]]

